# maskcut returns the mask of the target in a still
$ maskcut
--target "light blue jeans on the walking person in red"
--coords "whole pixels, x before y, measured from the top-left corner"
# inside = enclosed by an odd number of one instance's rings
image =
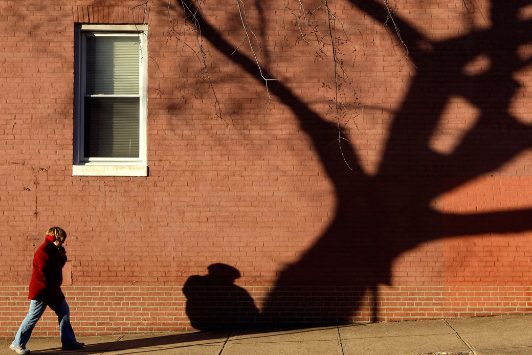
[[[31,300],[28,315],[22,321],[19,331],[16,332],[13,345],[26,348],[26,343],[30,340],[31,332],[46,310],[46,306],[50,307],[57,315],[61,343],[63,345],[69,345],[76,342],[76,335],[74,335],[74,331],[70,325],[70,309],[66,300],[59,303],[46,303],[43,301]]]

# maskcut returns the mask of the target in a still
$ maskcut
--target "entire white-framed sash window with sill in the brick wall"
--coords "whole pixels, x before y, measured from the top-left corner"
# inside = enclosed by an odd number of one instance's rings
[[[77,27],[72,175],[147,175],[146,30]]]

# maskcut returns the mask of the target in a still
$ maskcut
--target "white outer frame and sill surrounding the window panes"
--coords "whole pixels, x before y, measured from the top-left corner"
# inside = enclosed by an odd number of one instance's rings
[[[147,34],[146,25],[78,24],[74,49],[74,152],[72,176],[147,176]],[[98,36],[139,36],[139,158],[84,158],[84,94],[85,94],[85,39],[84,34]]]

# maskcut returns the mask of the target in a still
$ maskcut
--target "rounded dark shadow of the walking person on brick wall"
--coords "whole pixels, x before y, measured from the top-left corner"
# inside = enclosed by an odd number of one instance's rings
[[[259,317],[250,294],[234,284],[240,272],[232,266],[214,263],[209,274],[193,275],[183,286],[190,324],[201,331],[253,326]]]

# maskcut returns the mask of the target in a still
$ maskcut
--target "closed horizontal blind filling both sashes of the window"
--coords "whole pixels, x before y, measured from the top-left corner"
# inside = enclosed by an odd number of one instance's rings
[[[86,36],[84,155],[139,158],[139,40]]]

